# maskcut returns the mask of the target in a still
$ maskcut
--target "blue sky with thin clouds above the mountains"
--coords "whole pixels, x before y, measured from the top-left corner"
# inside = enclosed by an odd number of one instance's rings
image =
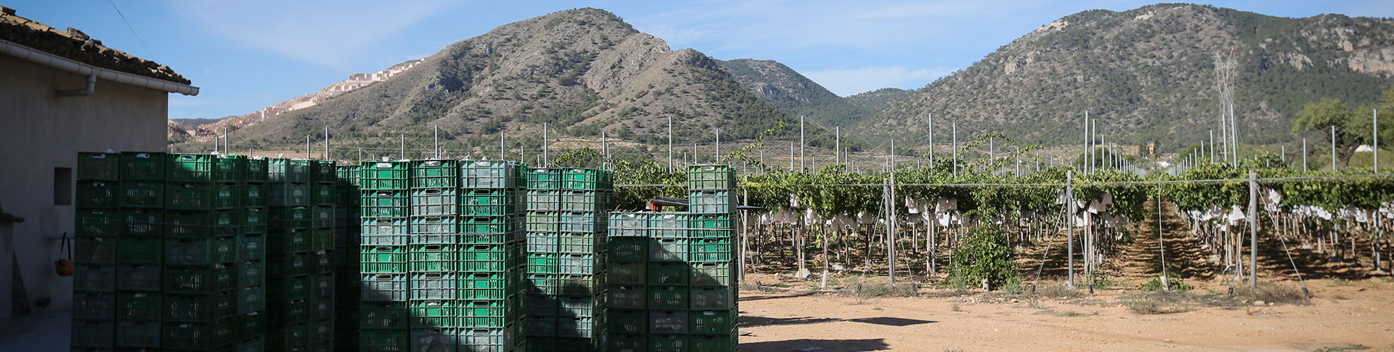
[[[114,8],[113,8],[114,3]],[[846,96],[916,89],[1044,24],[1147,1],[397,1],[22,0],[0,6],[166,64],[202,88],[170,118],[226,117],[319,90],[350,74],[429,56],[495,26],[574,7],[609,10],[673,49],[776,60]],[[1218,1],[1280,17],[1394,17],[1394,1]],[[121,21],[117,10],[130,21]],[[132,31],[134,29],[134,31]],[[132,33],[134,32],[134,33]],[[138,38],[138,39],[137,39]]]

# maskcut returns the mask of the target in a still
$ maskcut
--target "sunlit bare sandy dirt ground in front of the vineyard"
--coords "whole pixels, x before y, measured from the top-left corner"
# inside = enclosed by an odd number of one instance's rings
[[[1036,303],[744,291],[740,351],[1394,351],[1394,282],[1309,287],[1309,305],[1170,314],[1133,313],[1118,291]]]

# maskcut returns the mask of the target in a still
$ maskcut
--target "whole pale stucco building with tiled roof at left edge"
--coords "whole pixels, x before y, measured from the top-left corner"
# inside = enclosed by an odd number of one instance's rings
[[[198,88],[81,31],[0,7],[0,334],[71,309],[72,278],[53,262],[57,237],[72,232],[77,153],[164,150],[169,93]]]

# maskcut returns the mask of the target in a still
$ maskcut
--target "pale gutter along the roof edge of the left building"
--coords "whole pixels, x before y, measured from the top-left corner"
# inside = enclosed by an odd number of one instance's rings
[[[149,77],[142,77],[142,75],[127,74],[127,72],[107,70],[107,68],[100,68],[100,67],[93,67],[93,65],[89,65],[89,64],[78,63],[78,61],[75,61],[72,58],[60,57],[60,56],[56,56],[56,54],[50,54],[50,53],[45,53],[45,51],[40,51],[40,50],[31,49],[28,46],[17,45],[17,43],[10,42],[10,40],[0,39],[0,53],[8,54],[8,56],[13,56],[13,57],[18,57],[18,58],[24,58],[24,60],[28,60],[28,61],[32,61],[32,63],[36,63],[36,64],[40,64],[40,65],[46,65],[46,67],[52,67],[52,68],[57,68],[57,70],[63,70],[63,71],[68,71],[68,72],[74,72],[74,74],[78,74],[78,75],[88,77],[88,86],[86,86],[86,89],[77,89],[77,90],[71,90],[71,92],[68,92],[68,90],[59,90],[59,96],[64,96],[64,95],[67,95],[67,96],[81,96],[82,93],[91,95],[91,92],[95,89],[96,78],[100,78],[100,79],[105,79],[105,81],[117,82],[117,83],[134,85],[134,86],[139,86],[139,88],[149,88],[149,89],[155,89],[155,90],[162,90],[162,92],[180,93],[180,95],[187,95],[187,96],[197,96],[198,95],[198,88],[197,86],[184,85],[184,83],[176,83],[176,82],[170,82],[170,81],[164,81],[164,79],[156,79],[156,78],[149,78]]]

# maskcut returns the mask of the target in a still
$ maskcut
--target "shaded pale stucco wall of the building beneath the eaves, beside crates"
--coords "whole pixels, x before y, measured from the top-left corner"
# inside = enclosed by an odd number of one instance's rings
[[[43,239],[72,231],[72,206],[53,202],[53,168],[70,167],[75,178],[78,152],[164,150],[169,93],[99,79],[91,96],[54,96],[85,79],[0,54],[0,206],[25,218],[0,224],[0,323],[11,316],[13,259],[31,305],[50,298],[49,312],[71,310],[72,278],[53,271],[59,241]]]

